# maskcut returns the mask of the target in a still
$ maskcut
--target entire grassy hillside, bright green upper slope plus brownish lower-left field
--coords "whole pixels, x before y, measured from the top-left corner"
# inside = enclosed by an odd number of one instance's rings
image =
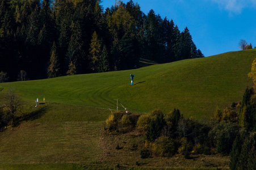
[[[187,117],[209,118],[216,105],[223,109],[242,100],[246,86],[252,85],[247,73],[255,57],[256,50],[251,49],[136,70],[1,83],[0,99],[8,88],[14,87],[28,112],[19,117],[15,127],[0,134],[0,169],[115,167],[116,162],[111,162],[110,158],[104,160],[107,165],[98,164],[100,155],[104,154],[100,132],[110,109],[116,109],[115,99],[132,112],[147,113],[161,108],[167,113],[178,108]],[[134,86],[130,85],[129,74],[135,75]],[[35,108],[36,98],[42,103],[44,97],[49,105],[40,104]],[[120,104],[119,109],[123,110]],[[125,148],[127,156],[128,144],[131,143],[127,142]],[[121,157],[116,151],[112,153],[113,159]],[[139,151],[135,155],[139,158]],[[136,166],[130,157],[124,157],[131,159],[128,165]],[[212,160],[204,159],[207,161],[200,163],[202,166],[213,164]],[[157,159],[139,161],[142,165],[145,162],[145,167],[154,166],[155,161],[159,163],[155,164],[156,168],[165,168],[165,162],[160,164]],[[226,168],[228,158],[223,161],[220,167]],[[174,167],[172,160],[168,162]],[[120,160],[120,164],[125,165],[125,160]],[[191,163],[185,162],[183,167],[177,168],[184,168],[186,164]]]

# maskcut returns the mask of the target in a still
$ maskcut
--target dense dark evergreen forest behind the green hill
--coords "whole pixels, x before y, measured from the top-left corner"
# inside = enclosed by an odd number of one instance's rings
[[[0,0],[0,20],[2,82],[204,57],[187,27],[133,1],[103,11],[98,0]]]

